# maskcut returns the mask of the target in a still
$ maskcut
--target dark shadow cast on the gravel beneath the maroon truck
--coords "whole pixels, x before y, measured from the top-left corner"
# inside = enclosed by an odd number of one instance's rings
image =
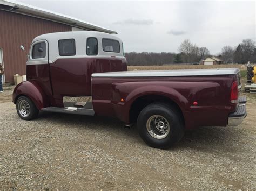
[[[68,128],[97,129],[101,132],[106,131],[106,133],[111,131],[121,139],[122,137],[129,137],[133,144],[145,145],[138,135],[136,125],[131,129],[126,129],[124,123],[116,118],[41,112],[37,120],[54,121],[59,125],[68,126]],[[211,152],[213,150],[223,150],[224,145],[225,150],[232,151],[238,144],[246,144],[242,137],[246,137],[246,132],[241,128],[201,127],[186,131],[184,137],[174,147],[170,148],[170,151],[190,148]]]

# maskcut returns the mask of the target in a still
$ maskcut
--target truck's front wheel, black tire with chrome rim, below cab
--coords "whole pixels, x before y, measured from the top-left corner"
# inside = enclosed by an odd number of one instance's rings
[[[22,104],[26,105],[25,109],[21,109]],[[28,108],[27,105],[29,106],[29,109],[26,110],[26,108]],[[27,121],[37,118],[39,112],[39,110],[36,108],[36,105],[30,100],[29,97],[26,96],[21,96],[18,98],[16,102],[16,110],[19,117]],[[24,112],[24,110],[26,110],[26,113]]]

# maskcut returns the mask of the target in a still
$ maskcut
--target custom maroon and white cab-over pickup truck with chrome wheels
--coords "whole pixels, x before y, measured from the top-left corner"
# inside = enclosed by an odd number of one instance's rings
[[[13,94],[22,119],[35,119],[39,110],[116,117],[137,122],[142,139],[157,148],[172,146],[187,129],[237,126],[246,117],[239,69],[127,72],[122,40],[102,32],[36,37],[26,75]],[[64,96],[92,102],[63,102]]]

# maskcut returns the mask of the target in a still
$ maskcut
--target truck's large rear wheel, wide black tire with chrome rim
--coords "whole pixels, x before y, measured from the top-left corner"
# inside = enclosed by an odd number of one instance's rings
[[[160,117],[160,119],[157,119],[157,117],[152,118],[154,116]],[[151,127],[149,127],[150,130],[147,128],[148,121],[150,124],[153,124],[149,125]],[[163,132],[158,132],[158,129],[156,128],[157,125],[155,125],[156,123],[159,124],[158,121],[160,121],[161,124],[169,124],[169,131],[161,135]],[[184,135],[183,118],[180,116],[179,112],[177,112],[175,107],[165,103],[151,103],[147,105],[138,116],[137,127],[139,135],[144,142],[155,148],[170,148],[175,143],[179,142]],[[156,133],[152,133],[153,130]],[[162,130],[167,131],[166,129]],[[163,138],[159,138],[159,135],[156,135],[158,133],[160,134],[160,137],[162,136]]]

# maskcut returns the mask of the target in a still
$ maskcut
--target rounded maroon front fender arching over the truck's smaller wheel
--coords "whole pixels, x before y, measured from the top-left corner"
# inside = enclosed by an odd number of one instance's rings
[[[39,110],[50,105],[48,96],[46,96],[42,88],[35,82],[25,81],[19,83],[12,94],[12,102],[16,104],[18,97],[22,95],[28,96]]]

